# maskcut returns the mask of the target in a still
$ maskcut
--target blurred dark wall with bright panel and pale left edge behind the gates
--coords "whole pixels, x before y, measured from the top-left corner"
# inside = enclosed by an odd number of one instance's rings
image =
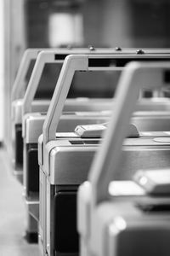
[[[168,0],[1,0],[0,142],[8,138],[10,92],[26,48],[167,48],[169,26]]]

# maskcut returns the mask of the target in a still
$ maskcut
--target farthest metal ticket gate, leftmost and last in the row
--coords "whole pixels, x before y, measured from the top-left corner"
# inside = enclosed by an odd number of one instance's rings
[[[42,49],[27,49],[25,55],[23,56],[23,60],[21,61],[21,65],[20,65],[20,69],[19,72],[17,74],[17,77],[15,79],[14,82],[14,87],[13,87],[13,91],[12,91],[12,116],[13,116],[13,145],[14,145],[14,169],[18,170],[18,172],[16,172],[17,174],[19,174],[20,177],[20,170],[22,168],[23,165],[23,157],[22,157],[22,137],[21,137],[21,133],[22,133],[22,128],[21,128],[21,108],[22,108],[22,100],[20,99],[20,96],[22,95],[21,92],[23,92],[23,84],[25,84],[25,77],[26,77],[26,73],[27,73],[27,69],[29,68],[29,64],[31,62],[31,60],[35,60],[37,58],[38,53],[41,51]],[[59,49],[61,50],[61,49]],[[79,49],[77,50],[77,52],[79,53],[83,53],[84,49]],[[86,51],[86,49],[85,49]],[[105,50],[102,49],[101,51],[103,51],[105,53]],[[107,51],[107,50],[106,50]],[[110,49],[110,52],[119,54],[119,55],[123,55],[123,54],[133,54],[136,55],[136,50],[135,49],[124,49],[122,50],[121,53],[117,53],[116,50],[114,49]],[[65,52],[65,50],[64,50]],[[98,52],[98,50],[96,51]],[[93,52],[93,54],[95,53],[95,51]],[[150,55],[161,55],[161,58],[163,57],[163,55],[168,55],[169,52],[168,50],[160,50],[160,49],[144,49],[144,53],[146,55],[150,54]],[[62,55],[62,51],[60,51],[60,54]],[[139,56],[138,54],[136,55],[137,57]],[[44,64],[42,63],[42,66]],[[40,66],[41,67],[41,66]],[[42,68],[42,67],[41,67]],[[65,103],[65,111],[67,111],[68,109],[71,111],[75,111],[77,109],[79,109],[80,111],[83,110],[89,110],[91,104],[88,104],[88,99],[85,100],[67,100],[67,102]],[[95,100],[95,105],[97,106],[97,109],[99,110],[99,105],[100,102],[98,100]],[[90,102],[91,103],[91,102]],[[32,111],[46,111],[48,109],[48,101],[34,101],[32,102]],[[68,108],[66,107],[66,105],[68,104]],[[75,106],[76,104],[76,106]],[[149,105],[148,105],[149,104]],[[140,106],[140,110],[145,110],[148,109],[148,107],[150,108],[150,104],[151,104],[151,108],[158,108],[161,110],[165,110],[165,108],[168,110],[169,107],[169,101],[167,99],[158,99],[158,100],[151,100],[151,102],[149,101],[145,101],[144,103],[141,104]],[[76,107],[76,108],[75,108]],[[102,106],[102,108],[104,107],[104,105]],[[108,108],[108,105],[106,103],[105,108]],[[93,107],[93,110],[95,110],[96,108]]]

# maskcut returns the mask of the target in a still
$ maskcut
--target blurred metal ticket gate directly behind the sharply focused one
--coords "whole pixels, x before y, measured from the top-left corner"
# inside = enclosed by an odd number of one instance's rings
[[[79,53],[79,51],[72,50],[72,53]],[[88,53],[89,51],[84,52]],[[99,52],[99,50],[96,51],[96,54]],[[100,51],[101,53],[107,53],[109,54],[110,50]],[[127,51],[128,52],[128,51]],[[136,56],[135,52],[130,52],[130,55],[126,55],[123,52],[122,55],[115,56],[114,61],[128,61],[131,60],[133,56]],[[68,53],[68,51],[65,51],[65,55]],[[57,56],[56,56],[57,55]],[[44,113],[31,113],[31,102],[33,101],[33,98],[35,96],[37,85],[39,83],[39,80],[42,75],[42,69],[45,65],[45,63],[57,63],[63,61],[62,58],[65,57],[64,51],[62,51],[62,55],[59,55],[59,52],[56,50],[46,50],[45,52],[42,52],[37,59],[36,67],[34,68],[34,71],[31,76],[31,81],[28,85],[28,88],[26,90],[26,95],[23,100],[23,115],[25,114],[24,121],[23,121],[23,137],[24,137],[24,152],[25,152],[25,165],[24,165],[24,176],[25,176],[25,188],[26,188],[26,203],[28,206],[31,206],[31,213],[33,213],[36,218],[38,218],[38,211],[37,211],[37,193],[39,191],[38,186],[38,180],[39,180],[39,172],[38,172],[38,164],[36,165],[36,159],[37,159],[37,138],[42,132],[42,124],[45,119]],[[130,56],[130,57],[129,57]],[[161,56],[162,57],[162,56]],[[134,57],[135,58],[135,57]],[[144,58],[149,58],[149,55],[144,55]],[[118,65],[116,67],[118,69]],[[105,118],[110,115],[110,113],[105,112],[98,112],[98,113],[89,113],[89,110],[96,110],[97,108],[105,109],[110,108],[111,100],[105,100],[101,99],[99,100],[88,100],[88,103],[91,102],[94,107],[88,107],[87,113],[74,113],[71,114],[65,114],[61,117],[61,122],[63,124],[62,129],[61,126],[59,126],[59,131],[73,131],[73,128],[81,124],[82,122],[91,124],[92,122],[102,122],[105,121]],[[100,105],[97,105],[96,103]],[[158,101],[157,101],[158,102]],[[147,103],[144,101],[144,103]],[[145,106],[145,105],[144,105]],[[139,108],[144,108],[144,106],[141,104],[139,105]],[[85,108],[85,106],[83,106]],[[86,107],[87,108],[87,107]],[[87,110],[87,109],[86,109]],[[26,114],[27,113],[27,114]],[[140,113],[142,114],[142,113]],[[153,113],[151,113],[151,118],[153,118]],[[99,118],[101,116],[101,118]],[[94,120],[93,120],[94,117]],[[167,125],[169,124],[169,120],[166,117]],[[159,117],[156,117],[158,119]],[[161,116],[162,118],[162,116]],[[71,122],[68,122],[68,120],[71,120]],[[158,119],[159,120],[159,119]],[[140,118],[138,117],[137,124],[139,125]],[[135,123],[135,121],[134,121]],[[152,120],[153,123],[153,120]],[[164,120],[165,123],[165,120]],[[156,123],[153,123],[153,127],[151,127],[151,130],[156,130]],[[166,125],[164,124],[164,127]],[[140,126],[139,126],[140,127]],[[144,129],[144,125],[142,127]],[[156,130],[157,131],[157,130]],[[33,166],[32,166],[33,163]],[[32,182],[34,181],[34,182]],[[35,196],[34,196],[35,193]],[[35,207],[36,206],[36,207]],[[36,209],[36,210],[35,210]]]

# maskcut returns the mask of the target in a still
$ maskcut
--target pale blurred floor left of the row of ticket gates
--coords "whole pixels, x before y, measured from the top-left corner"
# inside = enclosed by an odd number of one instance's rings
[[[10,171],[8,158],[0,149],[0,256],[37,256],[37,244],[24,239],[26,211],[22,186]]]

